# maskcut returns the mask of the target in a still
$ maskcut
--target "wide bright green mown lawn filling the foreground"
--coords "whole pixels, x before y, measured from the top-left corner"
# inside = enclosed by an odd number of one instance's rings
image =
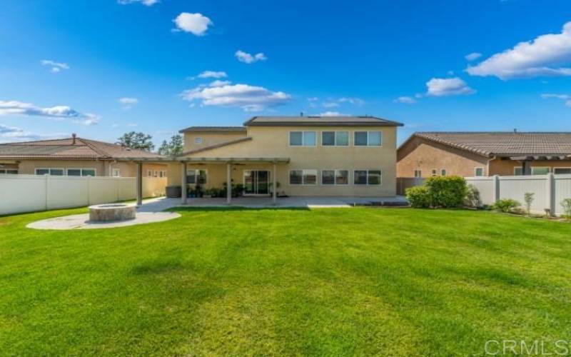
[[[0,218],[0,353],[473,355],[571,339],[571,224],[492,212],[188,209]],[[549,346],[549,345],[547,345]]]

